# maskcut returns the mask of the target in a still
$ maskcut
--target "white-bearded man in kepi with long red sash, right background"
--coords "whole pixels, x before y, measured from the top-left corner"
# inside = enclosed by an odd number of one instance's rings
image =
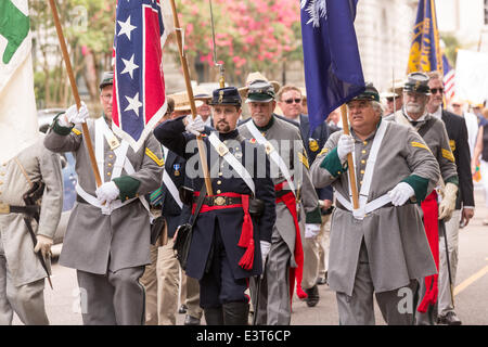
[[[403,86],[403,107],[386,117],[398,124],[407,125],[418,131],[437,159],[440,176],[436,188],[439,189],[441,202],[438,203],[437,191],[433,191],[422,203],[425,233],[427,234],[434,260],[439,268],[439,227],[449,220],[455,209],[458,193],[458,171],[454,155],[449,145],[449,137],[444,121],[434,117],[426,110],[431,94],[428,76],[424,73],[411,73]],[[435,324],[438,294],[438,275],[434,274],[421,281],[420,304],[416,314],[418,324]]]

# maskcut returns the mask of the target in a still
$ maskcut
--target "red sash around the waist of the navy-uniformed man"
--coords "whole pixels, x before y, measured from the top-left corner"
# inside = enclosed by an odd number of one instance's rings
[[[194,192],[193,195],[198,196],[200,192]],[[239,266],[241,268],[243,268],[244,270],[253,269],[255,245],[254,245],[253,220],[251,219],[251,215],[249,215],[249,195],[228,192],[228,193],[221,193],[221,194],[208,195],[208,196],[209,197],[214,197],[214,196],[241,197],[242,204],[222,205],[222,206],[208,206],[208,205],[203,204],[200,211],[202,214],[204,214],[209,210],[236,208],[236,207],[241,207],[244,210],[244,220],[242,222],[241,239],[239,239],[237,246],[246,248],[246,252],[244,253],[241,260],[239,261]],[[196,204],[193,204],[192,214],[195,213],[195,208],[196,208]]]

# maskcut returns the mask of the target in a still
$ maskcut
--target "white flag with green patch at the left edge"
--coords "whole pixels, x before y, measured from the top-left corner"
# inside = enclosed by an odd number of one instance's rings
[[[0,1],[0,164],[38,138],[27,0]]]

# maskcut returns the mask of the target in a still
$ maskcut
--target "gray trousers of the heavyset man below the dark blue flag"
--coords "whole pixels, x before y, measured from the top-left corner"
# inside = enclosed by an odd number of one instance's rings
[[[412,325],[416,308],[418,286],[416,280],[412,280],[408,286],[399,290],[374,293],[368,252],[363,242],[359,254],[352,295],[336,293],[339,324],[374,325],[374,294],[383,319],[388,325]]]

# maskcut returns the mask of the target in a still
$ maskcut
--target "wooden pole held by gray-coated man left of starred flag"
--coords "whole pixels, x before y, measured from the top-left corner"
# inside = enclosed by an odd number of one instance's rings
[[[79,99],[78,87],[76,86],[75,75],[73,74],[72,63],[69,61],[69,55],[66,48],[66,42],[64,40],[63,28],[61,27],[60,16],[57,15],[56,4],[54,0],[49,0],[49,5],[52,10],[52,16],[54,20],[54,25],[56,27],[57,39],[60,40],[61,51],[63,52],[64,63],[66,65],[66,72],[69,77],[69,83],[72,85],[73,97],[75,98],[76,106],[78,110],[81,107],[81,100]],[[95,177],[97,187],[102,185],[102,179],[100,178],[99,167],[97,166],[97,158],[94,156],[93,146],[91,144],[90,132],[88,131],[88,126],[86,123],[81,124],[85,143],[87,145],[88,155],[90,156],[91,168]]]

